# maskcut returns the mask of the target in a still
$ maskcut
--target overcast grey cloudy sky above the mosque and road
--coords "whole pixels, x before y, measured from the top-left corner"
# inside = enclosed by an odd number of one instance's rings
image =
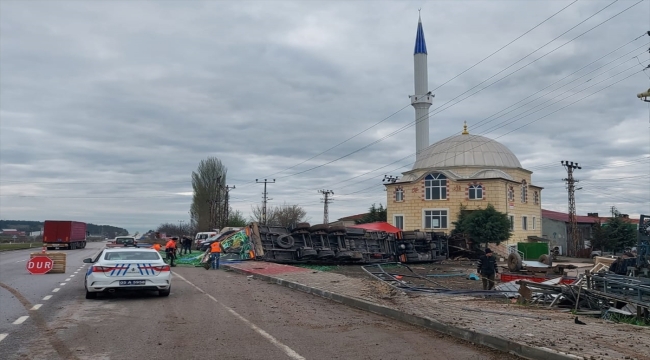
[[[188,221],[209,156],[246,216],[264,178],[314,223],[321,189],[330,220],[385,205],[384,175],[415,161],[418,8],[432,143],[467,121],[545,209],[567,210],[569,160],[579,214],[650,212],[648,0],[3,0],[0,218]]]

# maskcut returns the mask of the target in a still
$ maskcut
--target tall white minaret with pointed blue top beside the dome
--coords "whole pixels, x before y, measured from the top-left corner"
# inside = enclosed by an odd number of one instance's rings
[[[415,37],[413,53],[415,65],[415,95],[411,96],[411,105],[415,108],[415,149],[420,157],[422,150],[429,146],[429,107],[434,95],[429,91],[429,75],[427,72],[427,43],[424,41],[422,18],[418,16],[418,31]]]

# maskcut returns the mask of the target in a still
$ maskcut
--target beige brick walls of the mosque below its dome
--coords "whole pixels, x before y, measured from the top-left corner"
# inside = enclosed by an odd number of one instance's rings
[[[454,168],[456,174],[469,176],[479,169],[476,168]],[[456,221],[461,206],[468,210],[484,209],[487,204],[492,204],[498,211],[514,216],[514,231],[506,245],[516,244],[525,241],[528,236],[540,236],[542,227],[541,214],[541,188],[531,186],[532,173],[523,169],[500,169],[515,179],[461,179],[447,181],[447,199],[445,200],[424,200],[424,176],[429,172],[421,172],[418,180],[401,184],[387,184],[387,215],[388,222],[394,225],[394,216],[404,216],[404,230],[424,230],[423,210],[424,209],[446,209],[448,210],[448,221],[446,229],[435,229],[449,233],[453,229],[452,222]],[[525,180],[528,184],[527,199],[522,202],[521,183]],[[483,199],[469,200],[467,189],[471,184],[483,186]],[[514,200],[508,199],[508,187],[512,186]],[[395,201],[395,190],[401,187],[404,192],[403,201]],[[535,204],[534,192],[537,191],[538,203]],[[527,217],[527,230],[523,229],[522,218]],[[534,223],[533,223],[534,220]],[[429,229],[426,229],[429,230]]]

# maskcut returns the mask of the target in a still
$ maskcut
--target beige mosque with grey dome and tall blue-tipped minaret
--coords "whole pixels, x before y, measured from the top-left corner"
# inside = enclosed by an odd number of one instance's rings
[[[506,246],[540,238],[542,188],[532,184],[533,172],[522,168],[512,151],[497,141],[470,134],[466,124],[459,135],[429,145],[433,95],[428,90],[421,18],[413,57],[415,95],[410,98],[415,108],[416,161],[413,169],[386,184],[388,222],[403,230],[449,234],[461,207],[471,211],[492,204],[508,214],[512,230],[510,239],[496,247],[497,253],[506,255]]]

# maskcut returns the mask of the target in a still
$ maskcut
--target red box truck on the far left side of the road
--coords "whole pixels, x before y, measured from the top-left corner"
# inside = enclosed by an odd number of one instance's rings
[[[86,247],[86,223],[45,220],[43,246],[48,250],[83,249]]]

